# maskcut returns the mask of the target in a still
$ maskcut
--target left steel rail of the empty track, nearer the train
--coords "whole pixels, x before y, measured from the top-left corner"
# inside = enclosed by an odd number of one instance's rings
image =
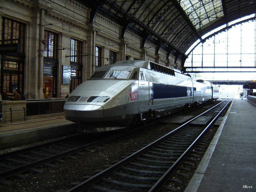
[[[91,186],[92,184],[96,183],[97,181],[99,181],[101,178],[104,178],[105,176],[109,175],[111,172],[113,172],[114,170],[117,170],[118,168],[122,167],[123,165],[125,165],[126,163],[128,163],[129,161],[135,159],[138,155],[140,155],[141,153],[143,153],[144,151],[146,151],[148,148],[160,143],[163,139],[165,139],[166,137],[170,136],[171,134],[175,133],[176,131],[178,131],[179,129],[181,129],[182,127],[184,127],[185,125],[189,124],[190,122],[196,120],[197,118],[201,117],[202,115],[204,115],[205,113],[209,112],[210,110],[212,110],[213,108],[217,107],[218,105],[222,104],[223,102],[225,102],[227,99],[225,99],[224,101],[220,102],[219,104],[216,104],[215,106],[213,106],[212,108],[206,110],[205,112],[201,113],[200,115],[196,116],[195,118],[187,121],[186,123],[182,124],[181,126],[179,126],[178,128],[176,128],[175,130],[171,131],[170,133],[162,136],[161,138],[155,140],[154,142],[148,144],[147,146],[145,146],[144,148],[140,149],[139,151],[129,155],[128,157],[126,157],[125,159],[117,162],[116,164],[110,166],[109,168],[97,173],[96,175],[94,175],[93,177],[87,179],[84,182],[81,182],[80,184],[72,187],[71,189],[69,189],[67,192],[75,192],[75,191],[84,191],[85,189],[87,189],[89,186]]]

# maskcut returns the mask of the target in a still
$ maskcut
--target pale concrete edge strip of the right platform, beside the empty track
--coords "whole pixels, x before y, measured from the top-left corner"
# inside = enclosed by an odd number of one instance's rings
[[[191,180],[190,180],[189,184],[187,185],[186,189],[184,190],[184,192],[196,192],[198,190],[198,188],[203,180],[205,171],[206,171],[206,169],[209,165],[209,162],[212,158],[213,152],[214,152],[217,142],[219,140],[222,129],[223,129],[225,122],[229,116],[229,112],[230,112],[233,102],[234,102],[234,99],[233,99],[232,103],[230,104],[230,107],[229,107],[226,115],[224,116],[215,136],[213,137],[213,140],[211,141],[201,162],[199,163],[198,167],[196,168],[196,172],[194,173],[193,177],[191,178]]]

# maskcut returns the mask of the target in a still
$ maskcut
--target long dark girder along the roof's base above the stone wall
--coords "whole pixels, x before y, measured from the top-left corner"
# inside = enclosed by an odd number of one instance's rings
[[[104,3],[105,5],[107,5],[109,7],[111,6],[112,9],[114,9],[119,14],[121,14],[124,18],[126,18],[126,20],[131,21],[132,23],[137,24],[138,26],[142,27],[148,34],[153,35],[154,37],[156,37],[159,40],[162,40],[163,43],[165,43],[166,45],[171,46],[172,48],[177,50],[177,52],[179,52],[181,55],[185,55],[185,53],[180,51],[177,47],[172,45],[169,41],[167,41],[162,36],[160,36],[157,32],[155,32],[153,29],[151,29],[148,25],[146,25],[145,23],[139,21],[132,14],[130,14],[128,11],[126,11],[125,9],[120,7],[119,5],[113,3],[111,0],[100,0],[100,2]]]

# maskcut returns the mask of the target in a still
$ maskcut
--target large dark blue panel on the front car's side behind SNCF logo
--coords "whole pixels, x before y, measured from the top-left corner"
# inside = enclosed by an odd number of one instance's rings
[[[176,85],[153,84],[154,99],[187,97],[187,87]],[[191,90],[189,88],[189,90]]]

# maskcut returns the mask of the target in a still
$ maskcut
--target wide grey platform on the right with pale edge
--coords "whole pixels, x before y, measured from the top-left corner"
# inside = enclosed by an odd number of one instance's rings
[[[256,106],[235,98],[185,192],[256,191]]]

